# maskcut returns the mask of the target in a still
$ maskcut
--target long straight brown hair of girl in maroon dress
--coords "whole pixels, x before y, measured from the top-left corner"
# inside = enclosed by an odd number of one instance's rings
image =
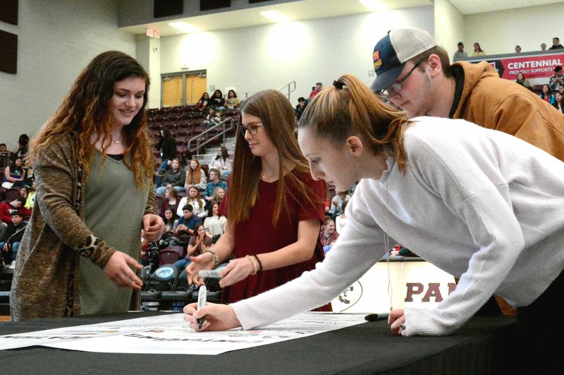
[[[298,178],[297,173],[308,173],[309,164],[300,152],[298,141],[295,139],[295,117],[292,104],[279,91],[264,90],[257,92],[243,102],[241,112],[257,116],[262,121],[262,129],[266,131],[269,138],[275,141],[278,149],[278,161],[280,172],[278,173],[278,185],[276,191],[276,203],[272,215],[272,225],[276,226],[283,210],[290,215],[286,204],[286,192],[293,195],[298,190],[300,199],[309,199],[309,191],[305,184]],[[242,125],[241,117],[239,126]],[[283,176],[284,164],[290,161],[295,165],[293,170]],[[250,208],[255,205],[259,197],[259,180],[262,168],[261,158],[250,151],[245,136],[237,132],[235,143],[235,156],[233,158],[233,172],[229,182],[229,223],[237,224],[249,217]],[[287,181],[286,181],[287,180]],[[293,189],[288,189],[290,185]],[[298,202],[300,202],[298,200]]]

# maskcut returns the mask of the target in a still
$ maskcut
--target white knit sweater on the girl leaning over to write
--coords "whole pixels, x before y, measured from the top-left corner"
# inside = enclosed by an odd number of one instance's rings
[[[494,292],[529,305],[563,270],[564,163],[463,120],[414,121],[404,138],[407,173],[390,157],[379,180],[362,180],[324,262],[232,305],[243,328],[332,300],[384,255],[382,230],[460,277],[435,309],[405,308],[408,336],[451,333]]]

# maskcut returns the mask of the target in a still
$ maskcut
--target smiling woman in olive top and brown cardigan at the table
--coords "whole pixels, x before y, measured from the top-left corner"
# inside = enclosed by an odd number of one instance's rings
[[[137,300],[140,228],[148,241],[163,229],[148,89],[135,59],[99,54],[30,143],[39,209],[18,250],[12,320],[127,312]]]

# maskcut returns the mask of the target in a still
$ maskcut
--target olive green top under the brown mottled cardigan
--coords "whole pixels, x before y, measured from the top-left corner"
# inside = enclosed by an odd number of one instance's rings
[[[149,186],[138,189],[135,174],[123,160],[106,157],[96,150],[90,162],[85,191],[85,223],[108,246],[139,259],[142,216]],[[118,288],[96,264],[85,261],[80,267],[80,313],[127,312],[131,288]]]

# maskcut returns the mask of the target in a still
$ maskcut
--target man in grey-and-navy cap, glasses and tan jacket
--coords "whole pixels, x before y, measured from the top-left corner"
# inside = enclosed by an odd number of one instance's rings
[[[450,65],[429,32],[416,28],[392,30],[376,51],[380,59],[374,61],[372,90],[387,90],[391,102],[408,116],[463,118],[520,137],[564,160],[563,116],[534,92],[499,78],[486,61]],[[403,56],[401,61],[398,56]]]

